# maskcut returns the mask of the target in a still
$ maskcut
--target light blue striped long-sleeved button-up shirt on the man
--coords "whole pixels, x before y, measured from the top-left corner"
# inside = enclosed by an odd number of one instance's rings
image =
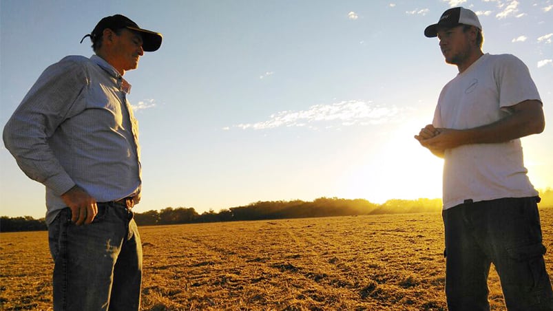
[[[97,202],[140,193],[138,122],[130,85],[103,58],[67,56],[34,83],[3,131],[23,172],[46,187],[46,222],[78,185]]]

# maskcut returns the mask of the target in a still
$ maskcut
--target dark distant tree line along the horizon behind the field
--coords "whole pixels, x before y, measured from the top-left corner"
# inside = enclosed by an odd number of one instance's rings
[[[540,191],[540,207],[553,207],[553,189]],[[264,219],[304,217],[332,217],[351,215],[379,215],[398,213],[432,213],[441,211],[440,199],[388,200],[384,204],[364,199],[340,199],[320,197],[313,202],[302,200],[255,202],[247,206],[225,208],[198,214],[192,207],[163,208],[160,211],[135,213],[138,226],[168,224],[193,224],[202,222],[232,222]],[[46,230],[45,219],[25,217],[0,217],[0,232]]]

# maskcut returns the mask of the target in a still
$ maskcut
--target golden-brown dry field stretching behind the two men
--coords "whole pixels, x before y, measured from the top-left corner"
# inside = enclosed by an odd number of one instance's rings
[[[541,209],[553,275],[553,208]],[[146,226],[143,310],[446,310],[439,213]],[[0,234],[0,309],[48,310],[45,232]],[[496,272],[492,310],[503,310]]]

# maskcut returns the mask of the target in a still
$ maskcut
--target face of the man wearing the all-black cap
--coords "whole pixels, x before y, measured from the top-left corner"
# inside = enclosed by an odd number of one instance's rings
[[[120,34],[114,33],[112,66],[121,74],[126,70],[136,69],[138,58],[144,54],[142,45],[142,36],[138,32],[123,28]]]

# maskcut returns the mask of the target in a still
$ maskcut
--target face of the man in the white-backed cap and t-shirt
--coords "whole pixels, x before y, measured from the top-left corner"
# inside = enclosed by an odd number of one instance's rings
[[[446,63],[461,65],[470,54],[468,32],[463,31],[463,25],[454,28],[438,28],[438,39],[441,54]]]

